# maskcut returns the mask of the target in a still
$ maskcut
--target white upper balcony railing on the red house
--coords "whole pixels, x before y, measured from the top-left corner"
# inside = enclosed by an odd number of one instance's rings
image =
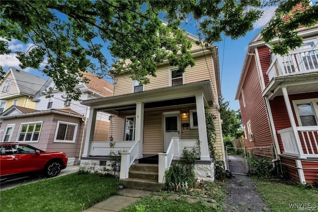
[[[274,77],[318,71],[318,46],[290,52],[289,55],[275,55],[266,72],[269,80]]]

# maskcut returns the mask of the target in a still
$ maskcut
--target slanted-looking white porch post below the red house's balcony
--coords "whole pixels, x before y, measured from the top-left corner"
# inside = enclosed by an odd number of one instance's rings
[[[290,123],[292,124],[293,132],[294,132],[294,135],[295,135],[299,156],[300,156],[300,158],[307,158],[307,157],[304,156],[303,147],[302,147],[302,144],[300,142],[300,138],[299,138],[299,134],[298,134],[298,131],[297,131],[297,126],[296,126],[296,122],[295,122],[292,106],[290,105],[290,101],[289,101],[289,97],[288,97],[288,93],[287,93],[286,87],[282,87],[282,92],[283,92],[283,96],[284,96],[285,105],[286,105],[286,108],[287,108],[289,120],[290,120]]]

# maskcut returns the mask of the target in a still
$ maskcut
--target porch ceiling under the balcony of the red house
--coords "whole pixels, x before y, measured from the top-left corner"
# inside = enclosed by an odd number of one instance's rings
[[[303,94],[318,92],[318,73],[298,74],[273,78],[263,92],[263,97],[270,100],[282,96],[282,87],[286,87],[288,94]]]

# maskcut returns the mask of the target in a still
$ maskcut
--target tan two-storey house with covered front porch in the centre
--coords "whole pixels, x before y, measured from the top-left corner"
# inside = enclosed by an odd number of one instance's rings
[[[120,179],[130,177],[125,182],[138,187],[139,184],[134,181],[137,178],[136,172],[129,172],[131,165],[142,161],[147,163],[147,158],[150,163],[153,158],[152,163],[159,165],[156,173],[152,173],[154,180],[150,183],[162,183],[164,171],[171,161],[180,159],[184,147],[192,149],[199,142],[200,156],[195,165],[196,176],[203,180],[214,180],[214,161],[210,158],[207,142],[205,108],[216,117],[215,147],[220,155],[219,159],[224,161],[218,106],[218,96],[221,94],[218,48],[215,47],[213,51],[204,48],[203,51],[204,45],[201,45],[199,38],[190,34],[187,36],[193,41],[191,53],[195,66],[192,68],[188,67],[181,73],[177,67],[164,62],[158,65],[157,77],[149,76],[148,85],[139,85],[129,74],[113,76],[116,82],[113,97],[82,102],[83,105],[90,106],[90,117],[93,117],[88,122],[80,163],[82,168],[109,171],[109,153],[124,150],[121,151]],[[196,41],[200,44],[196,44]],[[99,111],[112,114],[110,139],[104,142],[93,139],[94,119]],[[118,171],[119,167],[116,168]],[[149,177],[144,174],[139,177],[148,178],[147,176]]]

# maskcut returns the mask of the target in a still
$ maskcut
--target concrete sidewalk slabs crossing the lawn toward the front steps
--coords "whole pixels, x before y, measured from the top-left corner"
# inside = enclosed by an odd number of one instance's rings
[[[118,195],[111,196],[107,200],[95,204],[84,212],[119,212],[132,203],[137,202],[141,197],[148,196],[153,192],[139,189],[121,189]]]

